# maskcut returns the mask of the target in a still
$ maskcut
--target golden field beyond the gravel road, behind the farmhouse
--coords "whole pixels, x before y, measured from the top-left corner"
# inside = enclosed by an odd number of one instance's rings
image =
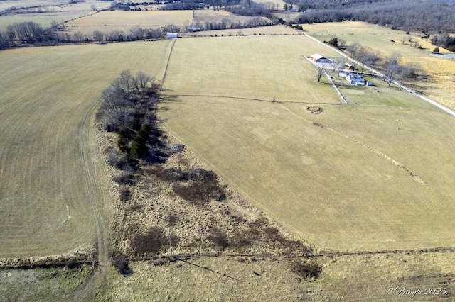
[[[352,21],[304,24],[303,28],[306,34],[321,41],[337,37],[346,40],[346,45],[358,41],[373,50],[379,50],[384,56],[390,55],[392,52],[400,53],[402,63],[416,62],[422,65],[429,76],[425,81],[410,83],[412,88],[452,110],[455,109],[455,86],[453,84],[455,82],[455,60],[430,56],[429,54],[435,46],[429,43],[429,40],[420,38],[422,33],[406,34],[402,30]],[[420,43],[423,49],[413,47],[410,39]],[[441,53],[451,53],[441,47],[439,49]]]

